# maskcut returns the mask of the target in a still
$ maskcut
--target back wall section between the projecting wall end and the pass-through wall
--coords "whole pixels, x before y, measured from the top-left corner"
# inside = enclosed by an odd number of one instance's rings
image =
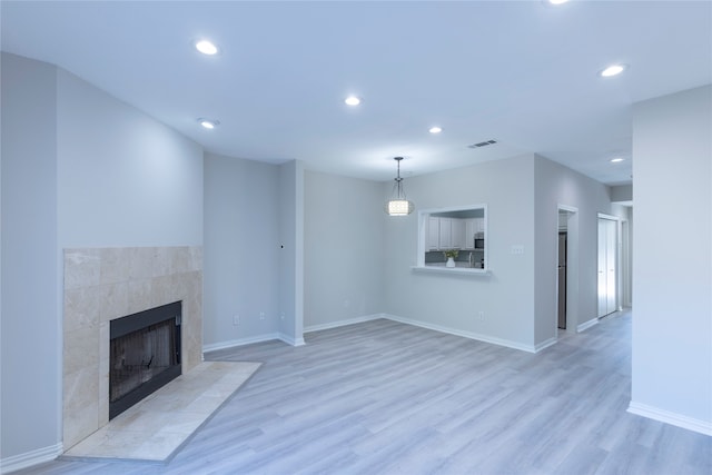
[[[380,182],[306,171],[306,328],[384,311],[383,205]]]

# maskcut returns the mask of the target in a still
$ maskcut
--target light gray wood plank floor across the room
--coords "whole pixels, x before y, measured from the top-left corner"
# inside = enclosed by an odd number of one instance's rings
[[[23,474],[705,474],[712,437],[626,413],[631,314],[533,355],[375,320],[207,355],[264,365],[168,465]]]

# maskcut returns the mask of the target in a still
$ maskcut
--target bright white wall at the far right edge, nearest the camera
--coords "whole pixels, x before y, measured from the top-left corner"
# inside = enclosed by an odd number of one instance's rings
[[[631,408],[712,434],[712,87],[633,112]]]

